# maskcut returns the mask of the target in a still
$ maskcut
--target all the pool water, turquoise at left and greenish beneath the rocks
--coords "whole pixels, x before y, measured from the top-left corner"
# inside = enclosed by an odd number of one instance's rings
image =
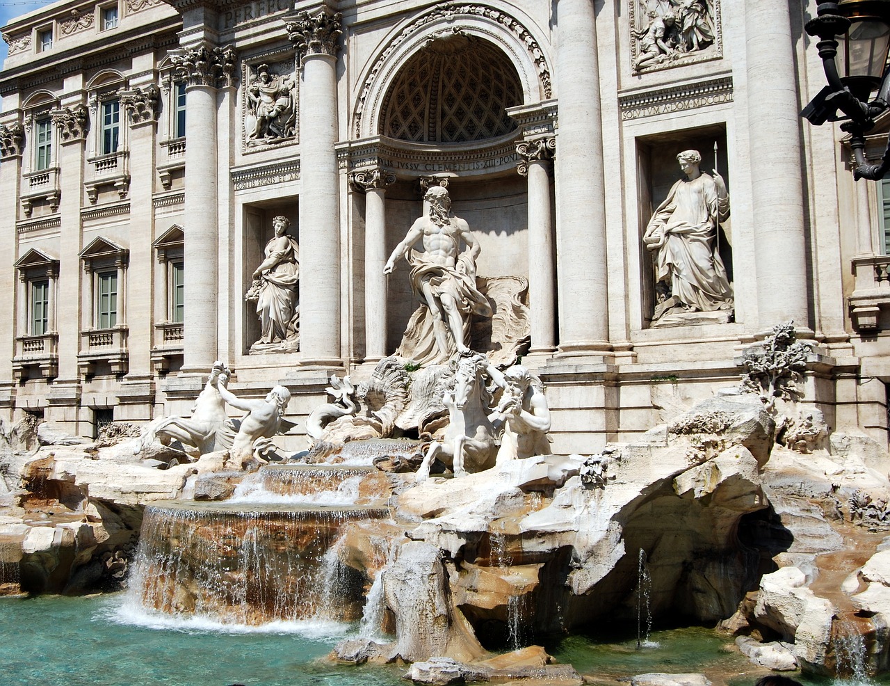
[[[404,667],[322,659],[356,633],[355,625],[321,621],[233,629],[175,620],[132,607],[124,594],[4,598],[0,686],[404,686]],[[643,649],[622,638],[572,636],[547,649],[609,684],[645,672],[700,672],[715,686],[751,686],[767,674],[729,650],[731,639],[704,628],[653,632]]]

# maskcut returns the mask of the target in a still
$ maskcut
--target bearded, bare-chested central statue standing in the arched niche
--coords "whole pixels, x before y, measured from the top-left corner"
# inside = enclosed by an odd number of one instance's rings
[[[427,308],[420,345],[412,355],[420,364],[442,363],[455,353],[468,352],[472,315],[491,316],[488,298],[476,288],[480,248],[469,225],[451,213],[448,189],[432,186],[424,199],[429,203],[428,216],[411,225],[384,266],[384,274],[392,274],[396,260],[405,257],[411,265],[411,290]],[[421,240],[424,251],[418,252],[413,246]]]

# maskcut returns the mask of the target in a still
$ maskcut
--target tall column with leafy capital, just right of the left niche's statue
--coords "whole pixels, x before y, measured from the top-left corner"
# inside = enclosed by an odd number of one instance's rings
[[[300,349],[303,364],[340,366],[340,221],[335,143],[340,14],[299,12],[287,35],[302,58]],[[307,240],[307,237],[311,238]]]

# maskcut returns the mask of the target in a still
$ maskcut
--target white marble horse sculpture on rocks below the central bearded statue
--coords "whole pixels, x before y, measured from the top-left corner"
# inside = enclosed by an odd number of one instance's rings
[[[457,362],[451,387],[443,398],[449,412],[445,437],[427,448],[417,470],[418,483],[429,478],[430,466],[437,458],[451,467],[456,477],[494,467],[498,439],[488,417],[491,396],[485,388],[487,368],[485,355],[479,353],[462,356]]]

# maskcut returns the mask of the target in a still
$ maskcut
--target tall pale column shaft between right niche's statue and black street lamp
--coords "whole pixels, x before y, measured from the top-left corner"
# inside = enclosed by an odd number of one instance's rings
[[[745,30],[758,329],[793,319],[807,330],[801,118],[788,3],[745,0]]]

